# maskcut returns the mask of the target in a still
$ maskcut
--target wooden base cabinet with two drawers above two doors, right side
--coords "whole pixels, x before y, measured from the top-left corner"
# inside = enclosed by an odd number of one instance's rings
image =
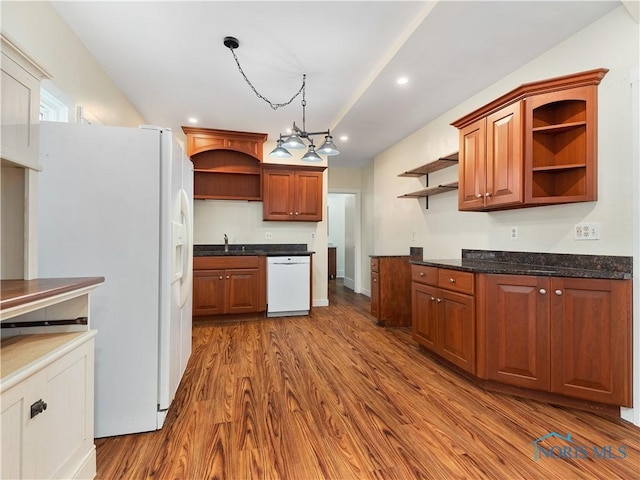
[[[411,292],[414,340],[475,374],[474,275],[413,265]]]

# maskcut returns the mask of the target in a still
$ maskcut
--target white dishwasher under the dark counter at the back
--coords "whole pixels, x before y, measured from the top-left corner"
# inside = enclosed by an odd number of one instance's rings
[[[267,257],[267,317],[308,315],[311,257]]]

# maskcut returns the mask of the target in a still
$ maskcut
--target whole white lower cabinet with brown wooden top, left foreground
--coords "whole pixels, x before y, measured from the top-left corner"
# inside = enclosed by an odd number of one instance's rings
[[[89,292],[104,278],[0,282],[0,478],[96,475]]]

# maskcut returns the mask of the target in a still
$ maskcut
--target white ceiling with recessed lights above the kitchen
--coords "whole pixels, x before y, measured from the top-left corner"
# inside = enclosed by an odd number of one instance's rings
[[[148,123],[268,133],[331,128],[361,166],[620,5],[618,1],[53,2]],[[396,84],[404,75],[409,83]],[[505,92],[506,93],[506,92]],[[348,141],[339,137],[348,135]],[[315,140],[316,144],[321,138]]]

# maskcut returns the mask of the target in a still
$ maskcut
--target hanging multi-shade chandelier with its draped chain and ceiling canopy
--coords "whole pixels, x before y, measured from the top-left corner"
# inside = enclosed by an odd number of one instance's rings
[[[332,156],[332,155],[338,155],[340,153],[338,148],[333,143],[331,132],[328,129],[322,132],[307,132],[307,129],[306,129],[307,75],[306,74],[302,75],[302,85],[300,89],[293,97],[291,97],[291,99],[288,102],[272,103],[263,95],[258,93],[256,88],[247,78],[247,75],[242,70],[242,67],[240,66],[240,61],[238,60],[238,57],[236,56],[236,53],[234,51],[236,48],[240,46],[240,42],[238,41],[238,39],[235,37],[224,37],[223,44],[225,47],[227,47],[231,51],[231,54],[233,55],[233,58],[236,61],[236,65],[238,65],[238,70],[242,74],[243,78],[245,79],[249,87],[251,87],[251,89],[258,96],[258,98],[261,98],[262,100],[267,102],[272,109],[277,110],[280,107],[286,107],[291,102],[293,102],[293,100],[295,100],[296,97],[298,97],[298,95],[302,93],[302,128],[298,127],[296,125],[296,122],[293,122],[293,127],[291,127],[291,133],[285,137],[283,137],[282,134],[280,134],[280,137],[276,142],[276,148],[274,148],[269,153],[270,157],[289,158],[291,157],[291,153],[289,152],[289,149],[297,150],[297,149],[307,148],[307,152],[302,156],[302,160],[305,162],[321,162],[322,158],[318,154]],[[322,145],[320,145],[320,148],[318,148],[318,150],[316,150],[316,146],[313,143],[313,138],[311,138],[313,135],[324,135],[324,142],[322,143]],[[305,141],[309,143],[308,146],[305,144]]]

